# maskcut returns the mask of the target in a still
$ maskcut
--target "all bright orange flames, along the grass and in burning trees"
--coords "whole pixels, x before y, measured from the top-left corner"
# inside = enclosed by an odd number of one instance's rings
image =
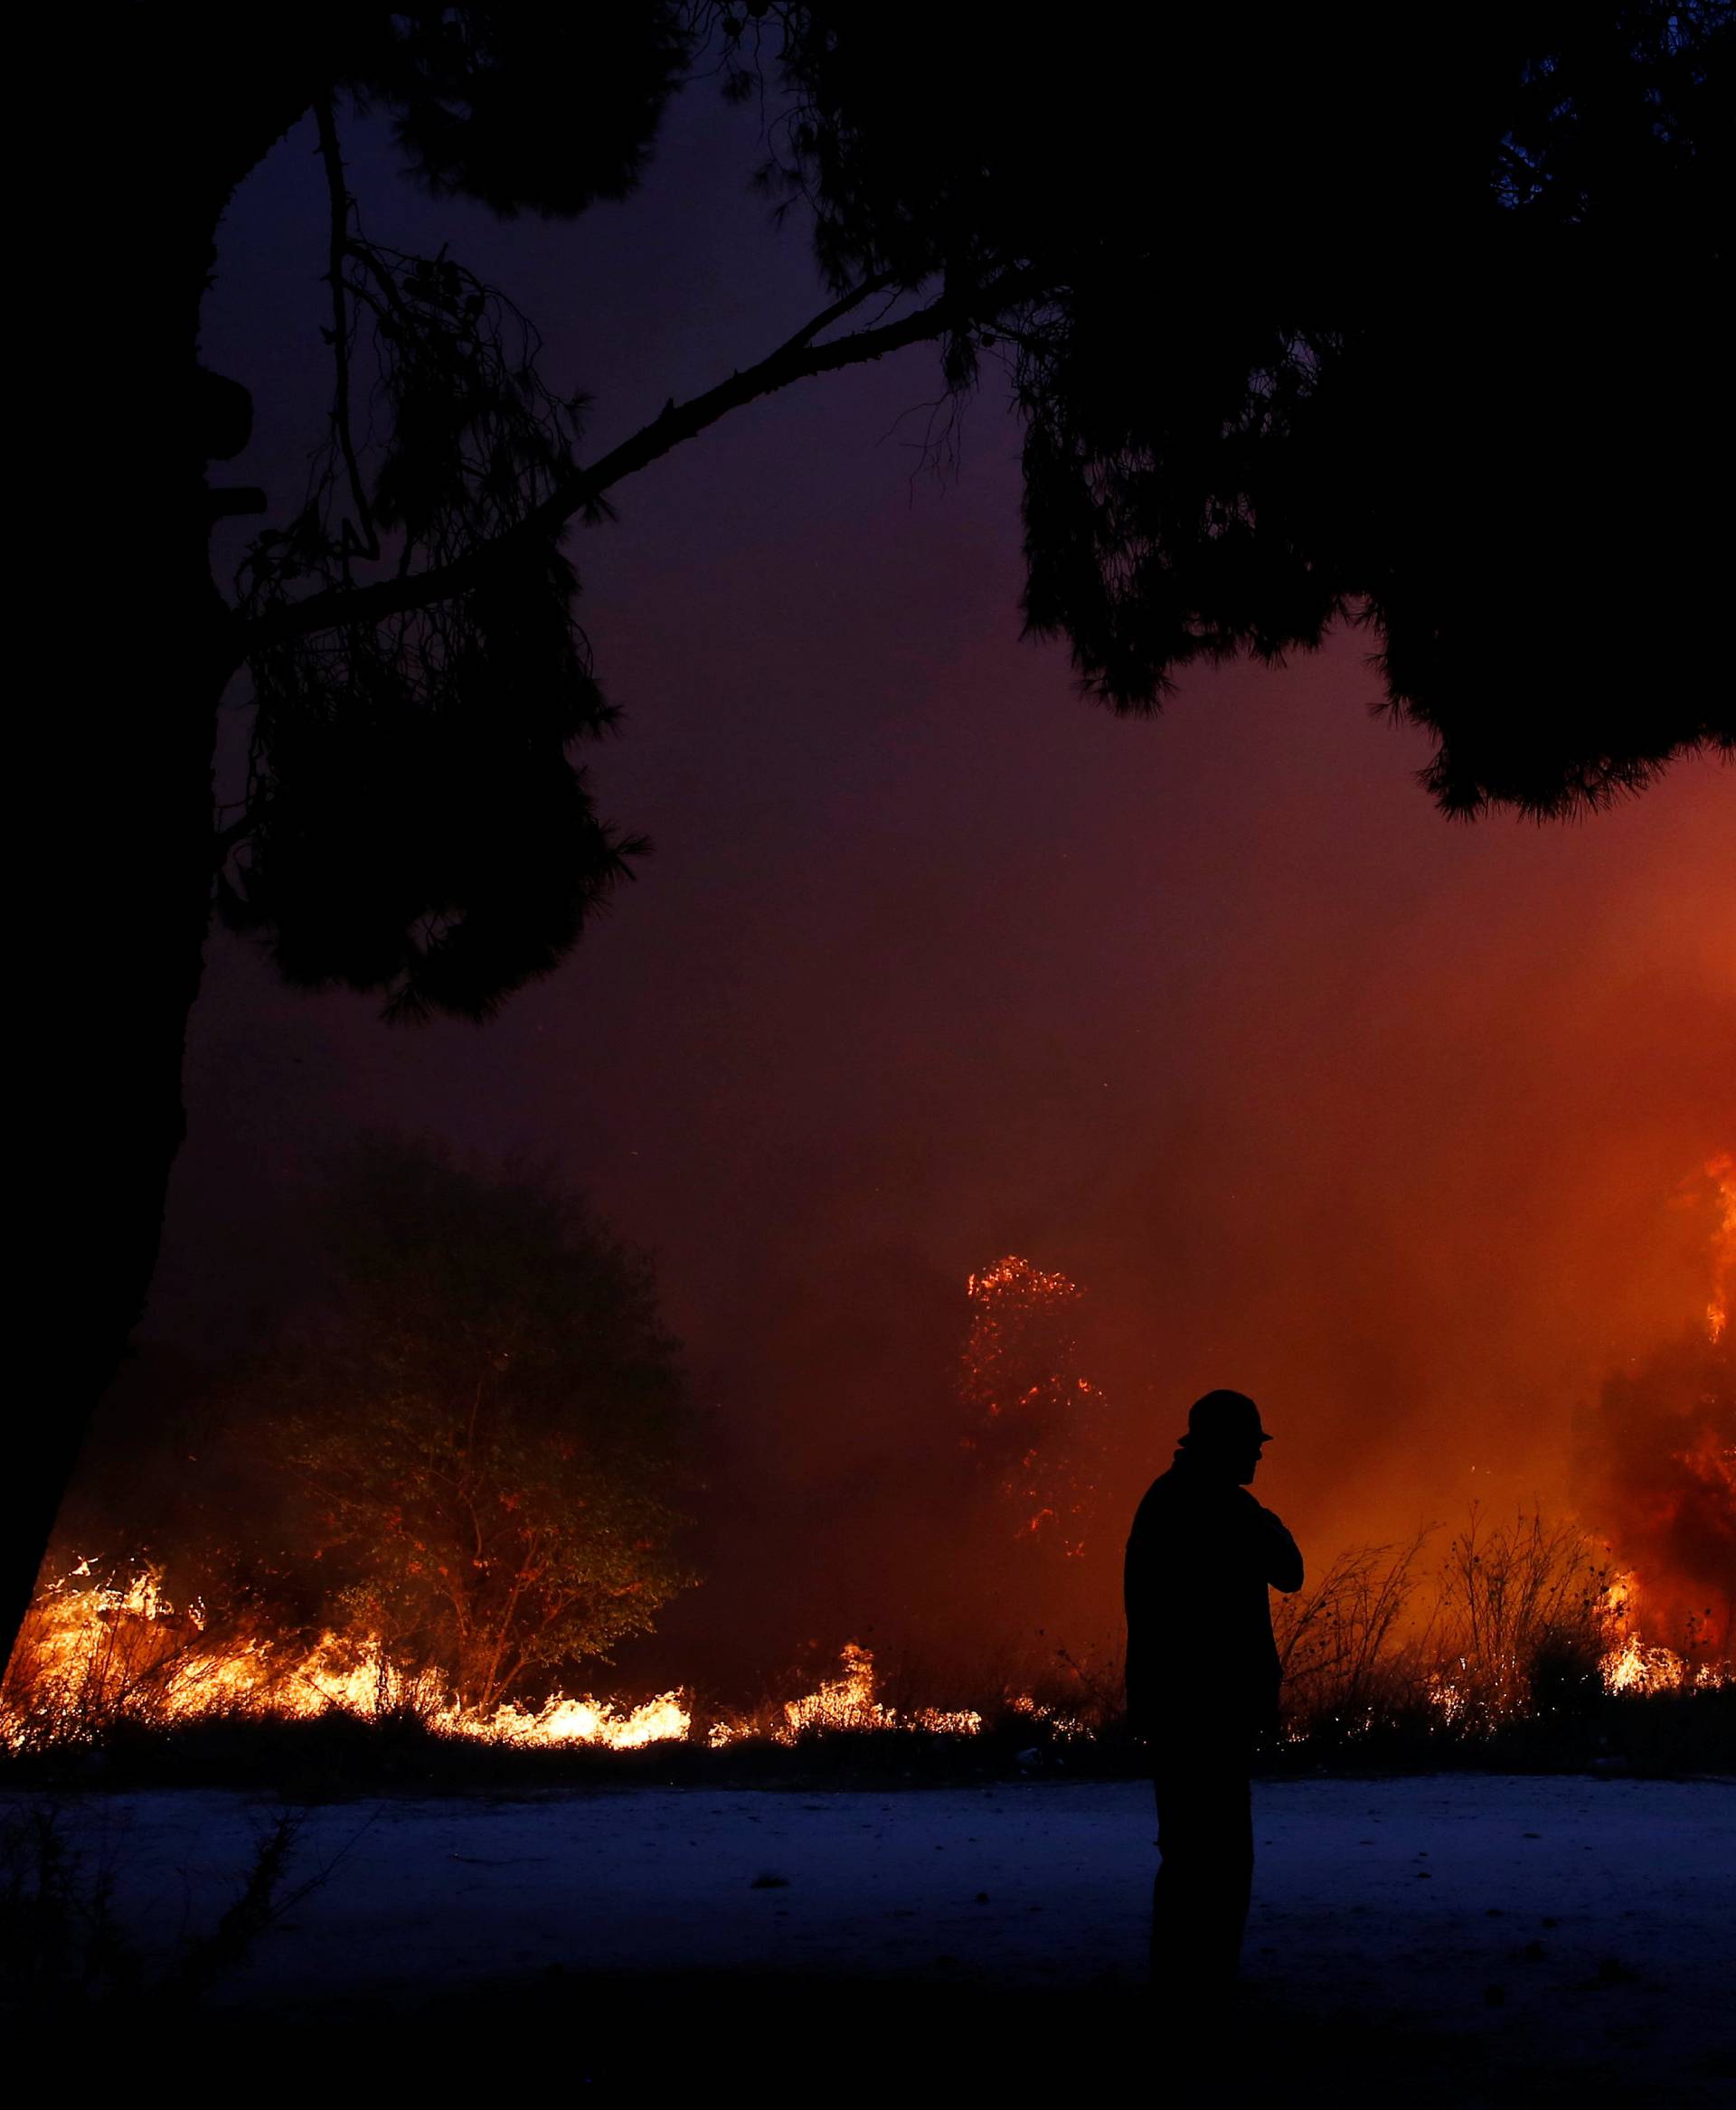
[[[1586,1530],[1620,1570],[1597,1572],[1601,1595],[1580,1595],[1576,1648],[1597,1652],[1609,1694],[1694,1692],[1736,1680],[1730,1599],[1719,1578],[1736,1545],[1730,1310],[1736,1293],[1736,1156],[1715,1156],[1685,1182],[1681,1207],[1715,1201],[1711,1300],[1694,1325],[1650,1359],[1616,1374],[1588,1416]],[[1078,1369],[1074,1310],[1080,1289],[1063,1274],[1006,1255],[970,1277],[972,1327],[964,1357],[968,1435],[991,1485],[1029,1521],[1019,1536],[1048,1536],[1076,1557],[1103,1477],[1091,1416],[1103,1399]],[[1698,1298],[1696,1298],[1698,1302]],[[1084,1420],[1082,1420],[1084,1416]],[[1590,1557],[1590,1555],[1586,1555]],[[1719,1604],[1719,1589],[1725,1599]],[[42,1591],[0,1692],[0,1749],[93,1741],[116,1722],[171,1726],[215,1715],[308,1720],[407,1711],[432,1732],[515,1747],[591,1745],[614,1751],[660,1743],[795,1745],[810,1734],[915,1730],[977,1737],[975,1709],[894,1707],[880,1696],[871,1650],[848,1644],[835,1675],[799,1699],[694,1726],[692,1694],[677,1688],[641,1703],[567,1696],[540,1705],[466,1705],[437,1669],[407,1669],[359,1614],[352,1631],[316,1639],[211,1620],[198,1599],[171,1599],[162,1568],[133,1564],[99,1574],[78,1561]],[[1664,1637],[1677,1646],[1664,1646]],[[1529,1705],[1527,1652],[1439,1661],[1426,1701],[1455,1732]],[[1057,1713],[1029,1694],[1002,1694],[1008,1715],[1046,1737],[1088,1739],[1097,1713]],[[1369,1724],[1373,1713],[1369,1715]]]

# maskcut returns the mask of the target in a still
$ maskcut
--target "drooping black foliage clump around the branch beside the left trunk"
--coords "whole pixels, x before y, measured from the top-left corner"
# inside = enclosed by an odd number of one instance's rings
[[[369,475],[340,401],[306,509],[247,555],[249,614],[342,593],[384,542],[399,570],[462,559],[574,466],[582,405],[542,384],[525,319],[340,211],[333,335],[367,338],[384,437]],[[567,755],[612,724],[576,591],[538,536],[462,595],[253,654],[247,825],[219,903],[232,928],[270,933],[289,981],[481,1017],[574,943],[639,848],[599,823]]]

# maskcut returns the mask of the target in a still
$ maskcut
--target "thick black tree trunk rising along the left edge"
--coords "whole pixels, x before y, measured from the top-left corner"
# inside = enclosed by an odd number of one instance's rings
[[[36,1386],[0,1471],[0,1661],[30,1608],[61,1496],[143,1312],[169,1169],[186,1133],[181,1055],[213,890],[211,766],[234,616],[211,580],[205,462],[238,449],[200,384],[198,310],[236,184],[308,108],[310,70],[198,11],[76,25],[82,158],[59,194],[76,257],[57,281],[38,546],[55,572],[23,610],[44,648],[40,772],[57,857],[21,920],[42,926],[44,1205]],[[240,40],[249,38],[243,51]],[[306,49],[297,49],[306,61]],[[224,59],[226,95],[205,80]],[[230,390],[245,411],[245,392]],[[53,519],[53,513],[59,519]],[[42,1226],[38,1232],[38,1224]],[[55,1312],[53,1325],[49,1312]],[[82,1549],[97,1551],[97,1549]],[[114,1549],[122,1551],[122,1549]]]

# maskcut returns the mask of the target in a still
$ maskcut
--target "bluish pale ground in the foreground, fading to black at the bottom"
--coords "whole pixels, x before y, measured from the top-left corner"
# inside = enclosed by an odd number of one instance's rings
[[[1129,2068],[1156,2102],[1730,2099],[1736,1787],[1312,1779],[1255,1808],[1245,1988],[1156,2017],[1137,1783],[329,1804],[240,1941],[270,1798],[11,1798],[55,1815],[108,1943],[82,1986],[15,1983],[11,2019],[74,2009],[213,2078],[283,2047],[346,2091],[1027,2104]]]

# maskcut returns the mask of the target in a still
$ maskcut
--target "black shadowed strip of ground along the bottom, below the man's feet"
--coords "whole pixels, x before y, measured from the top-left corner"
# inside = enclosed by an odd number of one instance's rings
[[[1390,2110],[1685,2106],[1723,2110],[1736,2061],[1669,2057],[1656,2074],[1578,2051],[1369,2017],[1301,2011],[1259,1988],[1217,2017],[1164,2017],[1131,1988],[1027,1992],[977,1983],[774,1975],[620,1973],[477,1986],[460,1998],[291,2004],[200,2026],[196,2066],[245,2064],[259,2023],[314,2051],[344,2087],[510,2085],[709,2099],[736,2089],[829,2102],[1162,2106],[1371,2104]],[[449,2097],[447,2097],[449,2099]]]

